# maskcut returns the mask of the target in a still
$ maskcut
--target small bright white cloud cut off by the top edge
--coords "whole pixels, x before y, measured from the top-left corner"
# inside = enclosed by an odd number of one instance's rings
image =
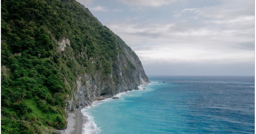
[[[168,5],[175,0],[119,0],[126,4],[137,5],[137,6],[153,6],[159,7]]]

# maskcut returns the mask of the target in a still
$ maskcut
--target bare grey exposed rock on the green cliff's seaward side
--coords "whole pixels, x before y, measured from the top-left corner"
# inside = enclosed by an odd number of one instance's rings
[[[84,10],[94,17],[87,8]],[[102,25],[99,21],[98,23]],[[73,97],[68,97],[67,112],[89,105],[93,100],[102,100],[113,94],[138,89],[138,86],[149,83],[139,57],[119,36],[115,35],[115,37],[122,52],[119,52],[117,60],[112,63],[111,74],[104,77],[101,72],[98,72],[79,76],[76,89],[73,90]],[[68,44],[67,39],[63,42]]]

